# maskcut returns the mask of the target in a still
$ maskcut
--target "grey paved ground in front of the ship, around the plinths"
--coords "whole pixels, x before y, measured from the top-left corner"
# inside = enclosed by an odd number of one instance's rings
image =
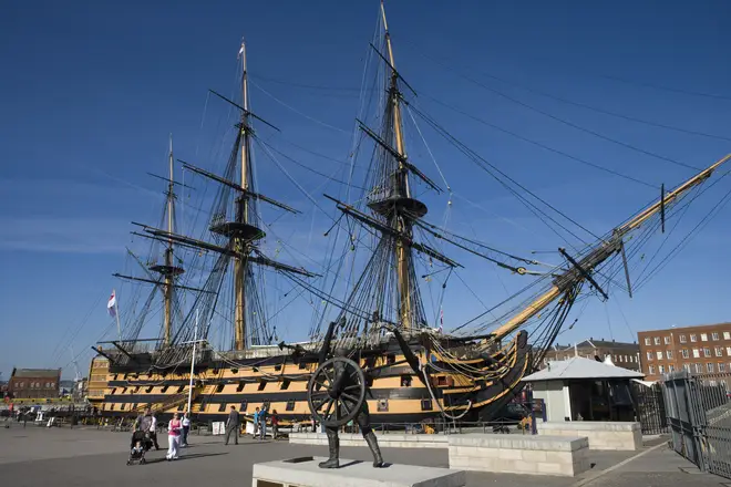
[[[181,459],[165,462],[165,452],[150,452],[147,465],[126,466],[127,433],[96,429],[43,428],[17,424],[0,427],[0,479],[13,487],[54,485],[130,486],[143,481],[155,487],[210,485],[249,485],[255,463],[302,455],[327,456],[327,447],[289,445],[287,442],[256,442],[241,438],[239,445],[225,446],[220,437],[193,436]],[[161,446],[167,441],[161,435]],[[496,474],[467,475],[470,487],[719,487],[729,481],[704,474],[688,474],[680,468],[692,465],[663,446],[662,439],[649,442],[641,456],[637,452],[591,453],[594,467],[575,478]],[[652,446],[656,445],[653,448]],[[657,446],[659,445],[659,446]],[[344,447],[343,458],[371,460],[368,448]],[[447,467],[446,450],[384,448],[387,462]],[[629,462],[627,462],[629,460]],[[622,464],[622,462],[627,462]],[[619,466],[618,466],[619,464]]]

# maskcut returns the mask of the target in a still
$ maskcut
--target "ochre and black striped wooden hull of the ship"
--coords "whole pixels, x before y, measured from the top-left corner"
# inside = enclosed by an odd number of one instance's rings
[[[414,351],[416,354],[422,352]],[[472,380],[455,373],[430,373],[431,392],[414,371],[404,363],[395,343],[361,358],[364,367],[377,367],[367,402],[373,424],[419,423],[442,416],[442,410],[463,421],[487,421],[492,414],[519,392],[519,382],[528,370],[529,348],[518,336],[509,349],[509,361],[488,379]],[[421,360],[425,358],[420,356]],[[102,363],[106,359],[95,359]],[[430,360],[436,369],[445,364]],[[132,416],[146,406],[162,418],[187,407],[189,362],[167,371],[148,373],[143,365],[127,361],[110,364],[106,370],[104,398],[97,404],[102,416]],[[490,367],[487,360],[471,361],[472,367]],[[185,367],[185,370],[184,370]],[[307,403],[307,385],[317,363],[298,361],[291,354],[237,360],[216,360],[196,366],[192,394],[192,417],[197,422],[223,421],[230,406],[246,416],[256,407],[268,405],[284,423],[307,422],[311,413]],[[103,366],[100,371],[104,370]],[[92,364],[92,373],[94,373]],[[432,395],[433,394],[433,395]]]

